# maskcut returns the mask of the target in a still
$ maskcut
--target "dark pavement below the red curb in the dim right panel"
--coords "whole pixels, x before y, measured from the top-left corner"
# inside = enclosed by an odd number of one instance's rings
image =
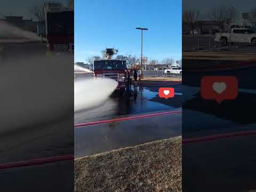
[[[255,189],[254,149],[255,135],[182,145],[182,170],[186,170],[182,172],[183,189],[236,192]]]

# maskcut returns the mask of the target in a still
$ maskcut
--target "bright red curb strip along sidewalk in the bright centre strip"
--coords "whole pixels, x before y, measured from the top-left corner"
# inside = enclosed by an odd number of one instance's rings
[[[76,124],[76,125],[74,125],[74,127],[76,128],[76,127],[79,127],[79,126],[96,125],[96,124],[111,123],[111,122],[117,122],[117,121],[125,121],[125,120],[130,120],[130,119],[137,119],[137,118],[153,117],[153,116],[157,116],[157,115],[177,114],[177,113],[181,113],[181,112],[182,112],[182,110],[167,111],[167,112],[155,113],[155,114],[146,114],[146,115],[138,115],[138,116],[132,116],[132,117],[108,119],[108,120],[103,120],[103,121],[95,121],[95,122]]]

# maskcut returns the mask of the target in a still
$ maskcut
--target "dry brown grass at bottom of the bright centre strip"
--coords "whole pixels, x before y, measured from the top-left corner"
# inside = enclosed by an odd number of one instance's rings
[[[75,191],[181,191],[181,137],[75,159]]]

